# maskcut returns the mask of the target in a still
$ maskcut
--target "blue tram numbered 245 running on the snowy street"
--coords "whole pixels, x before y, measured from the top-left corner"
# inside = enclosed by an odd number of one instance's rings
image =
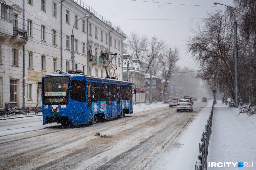
[[[42,77],[43,124],[81,125],[132,113],[132,83],[83,74]]]

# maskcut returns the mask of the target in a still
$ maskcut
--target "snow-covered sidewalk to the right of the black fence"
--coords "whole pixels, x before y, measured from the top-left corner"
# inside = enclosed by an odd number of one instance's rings
[[[256,169],[256,115],[239,114],[239,110],[228,108],[221,101],[214,106],[213,127],[209,147],[209,162],[252,162],[252,168],[208,167],[207,169]]]

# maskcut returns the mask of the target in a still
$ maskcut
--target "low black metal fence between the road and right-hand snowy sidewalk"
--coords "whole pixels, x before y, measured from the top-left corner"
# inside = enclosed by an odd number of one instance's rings
[[[207,170],[207,156],[208,156],[208,147],[210,145],[209,141],[212,134],[212,122],[213,122],[213,107],[210,110],[210,116],[207,120],[207,124],[205,125],[205,129],[203,130],[203,134],[201,137],[201,142],[199,143],[199,155],[198,160],[195,164],[196,170]]]

